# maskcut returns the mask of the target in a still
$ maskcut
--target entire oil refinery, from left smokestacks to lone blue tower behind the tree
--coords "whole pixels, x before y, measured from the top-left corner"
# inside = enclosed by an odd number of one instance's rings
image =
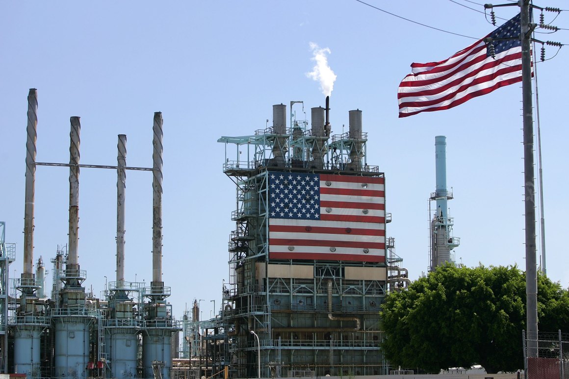
[[[181,320],[166,301],[171,288],[162,278],[162,114],[154,114],[148,168],[127,166],[123,134],[116,166],[81,164],[79,117],[70,120],[69,163],[36,162],[35,89],[28,95],[27,116],[19,278],[9,278],[16,249],[5,242],[0,223],[3,373],[62,379],[400,373],[382,355],[379,312],[386,294],[405,290],[410,279],[394,238],[387,236],[386,178],[380,167],[368,164],[361,110],[349,110],[349,130],[332,135],[328,97],[324,108],[311,108],[310,122],[304,102],[291,101],[288,110],[273,106],[273,126],[218,139],[225,145],[223,172],[236,186],[235,227],[228,243],[229,277],[219,278],[220,311],[207,320],[200,320],[201,299],[193,300]],[[452,249],[459,245],[447,215],[452,191],[446,186],[446,138],[436,137],[435,146],[430,270],[454,263]],[[51,293],[44,258],[34,257],[37,166],[69,167],[69,240],[50,258]],[[86,291],[86,270],[80,268],[82,167],[117,171],[116,280],[104,296]],[[125,281],[127,170],[152,173],[149,287]]]

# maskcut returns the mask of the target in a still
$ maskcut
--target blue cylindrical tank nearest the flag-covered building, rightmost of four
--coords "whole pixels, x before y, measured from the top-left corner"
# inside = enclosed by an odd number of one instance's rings
[[[154,378],[153,361],[164,362],[162,379],[170,379],[172,369],[172,329],[148,328],[142,336],[143,378]]]

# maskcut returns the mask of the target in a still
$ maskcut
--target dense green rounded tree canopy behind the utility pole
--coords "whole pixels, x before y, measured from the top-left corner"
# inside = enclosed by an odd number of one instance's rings
[[[569,291],[538,275],[538,330],[569,330]],[[385,357],[393,365],[438,373],[484,366],[523,368],[525,273],[517,266],[446,265],[386,296],[381,311]]]

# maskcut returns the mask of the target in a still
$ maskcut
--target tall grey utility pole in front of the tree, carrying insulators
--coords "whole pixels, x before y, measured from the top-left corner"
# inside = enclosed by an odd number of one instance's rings
[[[520,2],[522,43],[523,175],[525,180],[527,357],[537,357],[537,265],[535,253],[535,183],[533,105],[531,98],[530,0]]]

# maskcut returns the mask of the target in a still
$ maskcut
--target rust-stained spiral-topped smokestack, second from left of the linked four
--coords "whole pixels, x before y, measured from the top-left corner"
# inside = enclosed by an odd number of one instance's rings
[[[70,118],[71,131],[69,138],[69,252],[67,266],[65,267],[68,277],[79,277],[79,146],[81,139],[80,117]],[[79,282],[68,283],[79,286]]]

